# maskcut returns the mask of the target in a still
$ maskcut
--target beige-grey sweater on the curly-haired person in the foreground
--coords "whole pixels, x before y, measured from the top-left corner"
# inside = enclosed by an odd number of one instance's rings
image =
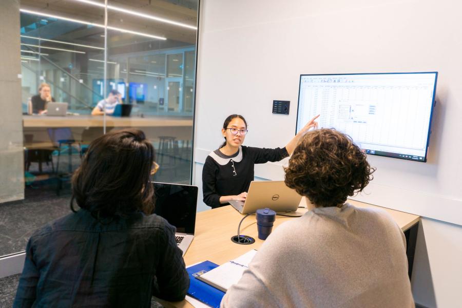
[[[274,230],[221,307],[415,307],[404,234],[383,210],[315,208]]]

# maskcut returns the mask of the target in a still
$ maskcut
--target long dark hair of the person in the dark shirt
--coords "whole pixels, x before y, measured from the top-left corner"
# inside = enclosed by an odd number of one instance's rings
[[[98,218],[151,214],[154,148],[143,131],[123,129],[95,139],[72,177],[72,199]],[[71,201],[71,209],[73,208]]]

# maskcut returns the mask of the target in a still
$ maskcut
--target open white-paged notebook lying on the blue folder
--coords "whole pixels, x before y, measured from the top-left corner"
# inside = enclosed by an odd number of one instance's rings
[[[256,253],[257,251],[252,249],[242,256],[211,269],[196,278],[226,292],[230,286],[241,279],[242,274],[244,274]]]

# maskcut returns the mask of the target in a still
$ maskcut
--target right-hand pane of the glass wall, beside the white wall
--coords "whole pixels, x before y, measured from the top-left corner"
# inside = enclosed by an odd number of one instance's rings
[[[109,1],[109,4],[119,6],[116,1]],[[184,2],[160,6],[158,2],[151,2],[143,6],[142,12],[158,16],[160,11],[164,11],[166,15],[163,17],[170,21],[196,24],[197,4]],[[141,10],[136,5],[127,9],[134,12]],[[128,24],[134,25],[133,29],[159,35],[166,40],[108,30],[107,59],[116,64],[108,62],[107,76],[116,83],[123,80],[124,103],[132,105],[130,122],[117,124],[118,121],[114,120],[114,127],[108,129],[125,125],[142,129],[156,148],[160,167],[155,180],[190,183],[196,30],[194,27],[191,29],[129,13],[108,11],[110,27]]]

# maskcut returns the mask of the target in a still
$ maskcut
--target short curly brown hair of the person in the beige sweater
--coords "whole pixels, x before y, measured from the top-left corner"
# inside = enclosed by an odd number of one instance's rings
[[[352,139],[335,129],[308,132],[285,170],[285,185],[316,207],[340,206],[373,179],[365,154]]]

